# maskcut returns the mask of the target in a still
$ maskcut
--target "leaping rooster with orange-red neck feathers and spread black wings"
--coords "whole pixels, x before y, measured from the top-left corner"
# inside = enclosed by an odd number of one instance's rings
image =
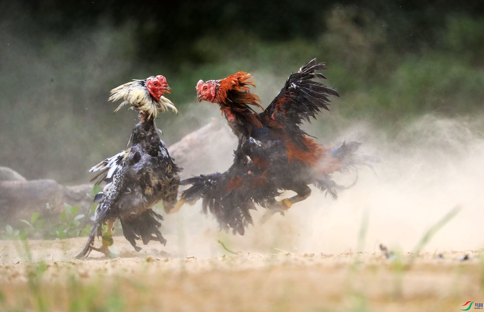
[[[223,229],[231,227],[243,235],[244,227],[252,224],[249,210],[255,209],[255,203],[269,208],[262,218],[265,221],[306,199],[311,194],[308,184],[336,198],[346,187],[336,184],[332,174],[347,173],[365,164],[366,159],[355,154],[360,143],[326,149],[300,128],[304,120],[316,118],[321,108],[329,110],[329,96],[339,96],[336,90],[313,80],[325,79],[315,72],[326,69],[316,59],[308,62],[289,76],[262,113],[252,108],[262,107],[257,95],[249,91],[248,86],[254,86],[250,74],[238,72],[221,80],[198,81],[197,101],[219,105],[239,145],[234,163],[225,173],[181,181],[192,186],[171,212],[185,202],[203,198],[205,213],[210,209]],[[297,194],[277,202],[275,197],[284,190]]]

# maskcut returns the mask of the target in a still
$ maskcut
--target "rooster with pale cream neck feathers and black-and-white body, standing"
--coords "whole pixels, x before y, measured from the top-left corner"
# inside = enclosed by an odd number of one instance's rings
[[[139,123],[131,133],[132,146],[107,158],[91,168],[90,172],[100,171],[93,179],[97,183],[106,182],[103,191],[94,200],[100,200],[94,214],[94,226],[83,250],[76,258],[86,257],[91,250],[110,255],[108,246],[113,244],[112,228],[117,218],[121,220],[124,237],[136,251],[136,239],[146,245],[157,240],[163,245],[166,239],[159,231],[163,217],[151,207],[163,200],[165,209],[171,209],[177,201],[180,168],[173,163],[165,143],[158,136],[154,119],[159,112],[169,107],[178,114],[177,108],[163,94],[171,89],[162,75],[144,80],[134,80],[111,90],[109,100],[123,99],[122,106],[130,104],[139,114]],[[106,224],[102,235],[102,246],[93,246],[96,231],[102,234],[100,225]]]

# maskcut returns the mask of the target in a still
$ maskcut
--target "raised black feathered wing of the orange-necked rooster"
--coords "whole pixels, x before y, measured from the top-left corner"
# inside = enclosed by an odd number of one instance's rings
[[[326,79],[322,74],[315,73],[323,70],[327,70],[324,63],[312,59],[297,73],[291,74],[272,103],[261,113],[261,120],[269,126],[268,120],[277,122],[288,130],[288,134],[305,135],[299,125],[304,120],[310,122],[310,117],[316,119],[321,108],[329,110],[330,96],[339,97],[335,89],[313,80]]]

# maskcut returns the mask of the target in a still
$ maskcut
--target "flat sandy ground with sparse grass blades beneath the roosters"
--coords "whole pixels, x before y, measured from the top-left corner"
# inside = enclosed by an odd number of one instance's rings
[[[83,243],[29,241],[29,261],[20,242],[0,241],[3,311],[460,311],[484,301],[478,251],[423,253],[413,263],[409,253],[276,249],[181,257],[174,244],[136,253],[118,238],[118,258],[72,259]]]

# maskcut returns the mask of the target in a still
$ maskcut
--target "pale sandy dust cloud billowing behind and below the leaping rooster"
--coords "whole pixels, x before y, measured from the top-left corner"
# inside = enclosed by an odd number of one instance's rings
[[[333,122],[339,119],[332,118]],[[361,153],[377,156],[381,162],[374,164],[375,172],[361,168],[356,186],[340,193],[337,200],[312,187],[307,200],[294,205],[285,216],[274,215],[264,225],[257,221],[265,209],[258,208],[253,212],[255,226],[250,226],[244,236],[217,231],[213,217],[201,214],[200,202],[166,216],[163,231],[176,234],[178,241],[169,243],[178,244],[180,255],[201,257],[220,254],[218,239],[243,253],[276,253],[274,248],[292,253],[378,252],[380,243],[410,252],[433,224],[458,206],[461,210],[457,216],[424,250],[480,249],[484,245],[480,224],[484,217],[482,121],[479,117],[426,115],[396,125],[393,134],[360,122],[331,133],[329,138],[318,135],[325,145],[344,140],[362,142]],[[227,163],[220,163],[220,159],[231,159],[236,144],[219,143],[219,147],[213,147],[216,157],[210,167],[224,171]],[[204,172],[203,168],[200,171]],[[335,175],[334,179],[348,185],[355,176]],[[364,214],[368,214],[368,228],[359,245]]]

